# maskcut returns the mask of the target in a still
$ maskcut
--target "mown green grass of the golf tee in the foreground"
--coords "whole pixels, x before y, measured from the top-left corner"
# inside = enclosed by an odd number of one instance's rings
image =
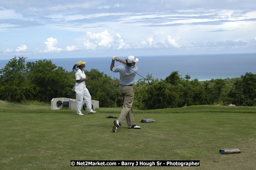
[[[218,169],[253,170],[256,107],[189,106],[134,110],[140,130],[126,121],[111,131],[120,108],[77,116],[50,105],[0,101],[1,170]],[[156,122],[140,123],[154,118]],[[240,154],[218,150],[239,148]],[[70,167],[70,160],[200,160],[200,167]]]

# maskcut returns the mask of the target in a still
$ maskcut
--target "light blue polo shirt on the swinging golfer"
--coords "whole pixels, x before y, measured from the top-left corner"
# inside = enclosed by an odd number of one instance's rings
[[[135,81],[135,75],[138,71],[137,66],[116,66],[112,69],[113,72],[119,72],[120,74],[120,84],[122,85],[131,85],[134,84]],[[134,73],[134,71],[136,73]]]

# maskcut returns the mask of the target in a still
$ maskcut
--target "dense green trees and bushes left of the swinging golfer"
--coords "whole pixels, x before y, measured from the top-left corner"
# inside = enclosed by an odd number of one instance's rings
[[[36,100],[50,102],[52,98],[76,98],[71,91],[76,83],[75,72],[57,67],[51,60],[25,62],[25,57],[14,57],[0,70],[0,99],[11,102]],[[96,69],[85,71],[87,88],[100,107],[121,106],[119,80]]]

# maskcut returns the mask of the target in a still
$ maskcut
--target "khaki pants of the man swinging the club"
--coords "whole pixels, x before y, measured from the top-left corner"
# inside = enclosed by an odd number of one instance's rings
[[[122,111],[118,118],[118,122],[122,124],[125,120],[127,121],[127,125],[134,125],[134,115],[132,112],[132,104],[134,102],[134,86],[119,86],[120,95],[124,105],[122,106]]]

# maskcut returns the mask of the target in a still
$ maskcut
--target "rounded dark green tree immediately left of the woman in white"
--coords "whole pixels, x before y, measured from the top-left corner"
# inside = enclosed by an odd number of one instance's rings
[[[49,102],[56,97],[70,97],[74,78],[70,79],[69,73],[62,67],[57,67],[51,60],[38,60],[27,62],[27,79],[35,85],[38,92],[34,99]]]

